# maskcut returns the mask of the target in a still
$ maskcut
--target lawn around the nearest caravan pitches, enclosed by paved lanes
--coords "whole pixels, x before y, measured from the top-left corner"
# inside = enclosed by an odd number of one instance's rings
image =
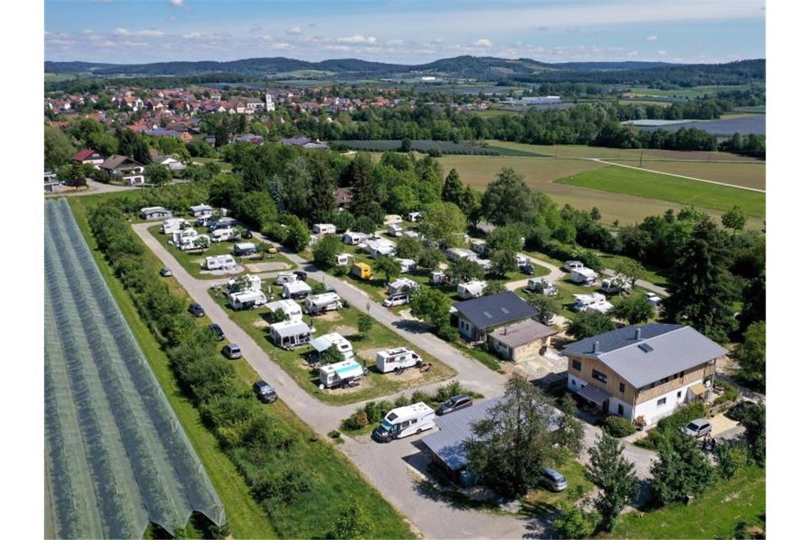
[[[434,356],[427,354],[405,342],[403,338],[389,330],[379,322],[374,322],[372,329],[366,336],[358,334],[358,317],[361,312],[356,308],[344,308],[337,312],[330,312],[320,317],[306,317],[305,321],[315,325],[316,336],[338,332],[345,335],[352,342],[355,354],[359,356],[358,362],[366,364],[369,374],[363,378],[360,386],[354,389],[319,389],[319,374],[317,368],[307,364],[306,355],[312,351],[311,347],[299,347],[294,351],[285,351],[274,345],[268,338],[268,308],[252,309],[235,312],[226,304],[225,295],[210,289],[210,294],[218,304],[225,309],[228,316],[242,327],[255,342],[268,353],[273,362],[281,366],[288,375],[293,377],[303,389],[311,393],[314,398],[334,405],[355,403],[367,399],[388,396],[401,390],[415,388],[434,382],[444,381],[456,375],[456,372],[447,365],[442,364]],[[419,373],[412,369],[405,374],[397,376],[393,373],[380,373],[375,367],[375,353],[382,349],[393,347],[410,347],[431,363],[431,371]]]

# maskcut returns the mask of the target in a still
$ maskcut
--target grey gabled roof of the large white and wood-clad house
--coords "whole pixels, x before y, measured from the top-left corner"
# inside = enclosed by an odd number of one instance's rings
[[[637,328],[642,330],[639,339]],[[599,342],[596,353],[594,342]],[[561,352],[598,358],[636,388],[642,388],[728,351],[690,326],[651,323],[581,339]]]

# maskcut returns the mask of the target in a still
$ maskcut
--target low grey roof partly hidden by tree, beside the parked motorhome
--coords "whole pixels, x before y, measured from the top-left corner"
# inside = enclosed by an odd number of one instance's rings
[[[462,470],[467,466],[466,440],[474,438],[473,424],[491,417],[490,410],[497,406],[504,396],[486,399],[472,407],[436,417],[438,432],[423,437],[422,442],[435,453],[450,470]],[[552,410],[556,413],[556,410]],[[557,414],[556,414],[557,417]],[[549,426],[549,431],[557,429],[557,424]]]

